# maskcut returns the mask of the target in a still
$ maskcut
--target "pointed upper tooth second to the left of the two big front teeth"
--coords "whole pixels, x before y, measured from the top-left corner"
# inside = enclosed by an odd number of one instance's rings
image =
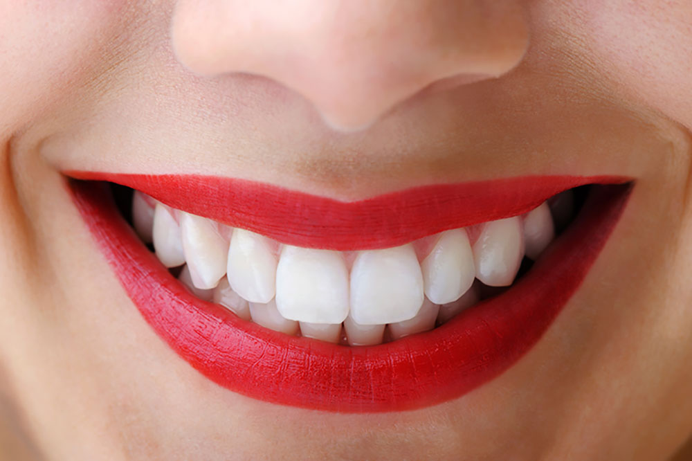
[[[192,283],[197,288],[216,287],[226,273],[228,242],[215,222],[190,213],[181,213],[180,228]]]

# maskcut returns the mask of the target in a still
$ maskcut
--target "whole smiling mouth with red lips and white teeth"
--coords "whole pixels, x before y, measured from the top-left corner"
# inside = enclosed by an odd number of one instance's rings
[[[345,202],[221,177],[66,175],[129,298],[193,368],[254,399],[345,413],[439,404],[511,367],[632,190],[520,177]]]

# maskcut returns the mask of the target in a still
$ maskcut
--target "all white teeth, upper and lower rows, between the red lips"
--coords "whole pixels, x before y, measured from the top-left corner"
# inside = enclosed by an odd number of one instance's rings
[[[388,341],[425,332],[511,285],[522,257],[535,260],[571,217],[574,196],[563,192],[523,217],[346,253],[280,246],[239,228],[229,242],[226,226],[152,203],[134,192],[134,227],[162,264],[183,266],[179,280],[197,298],[284,334],[376,345],[385,332]],[[433,242],[419,263],[415,248],[424,253]]]

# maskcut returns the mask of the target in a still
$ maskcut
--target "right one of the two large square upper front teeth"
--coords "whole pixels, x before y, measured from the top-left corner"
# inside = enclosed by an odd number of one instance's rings
[[[423,304],[423,275],[411,244],[361,251],[351,270],[351,316],[361,325],[413,318]]]

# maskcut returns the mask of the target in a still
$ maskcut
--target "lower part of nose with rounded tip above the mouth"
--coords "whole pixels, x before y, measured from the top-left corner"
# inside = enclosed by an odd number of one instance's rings
[[[172,24],[192,71],[271,78],[339,129],[440,80],[507,73],[528,40],[520,0],[179,0]]]

